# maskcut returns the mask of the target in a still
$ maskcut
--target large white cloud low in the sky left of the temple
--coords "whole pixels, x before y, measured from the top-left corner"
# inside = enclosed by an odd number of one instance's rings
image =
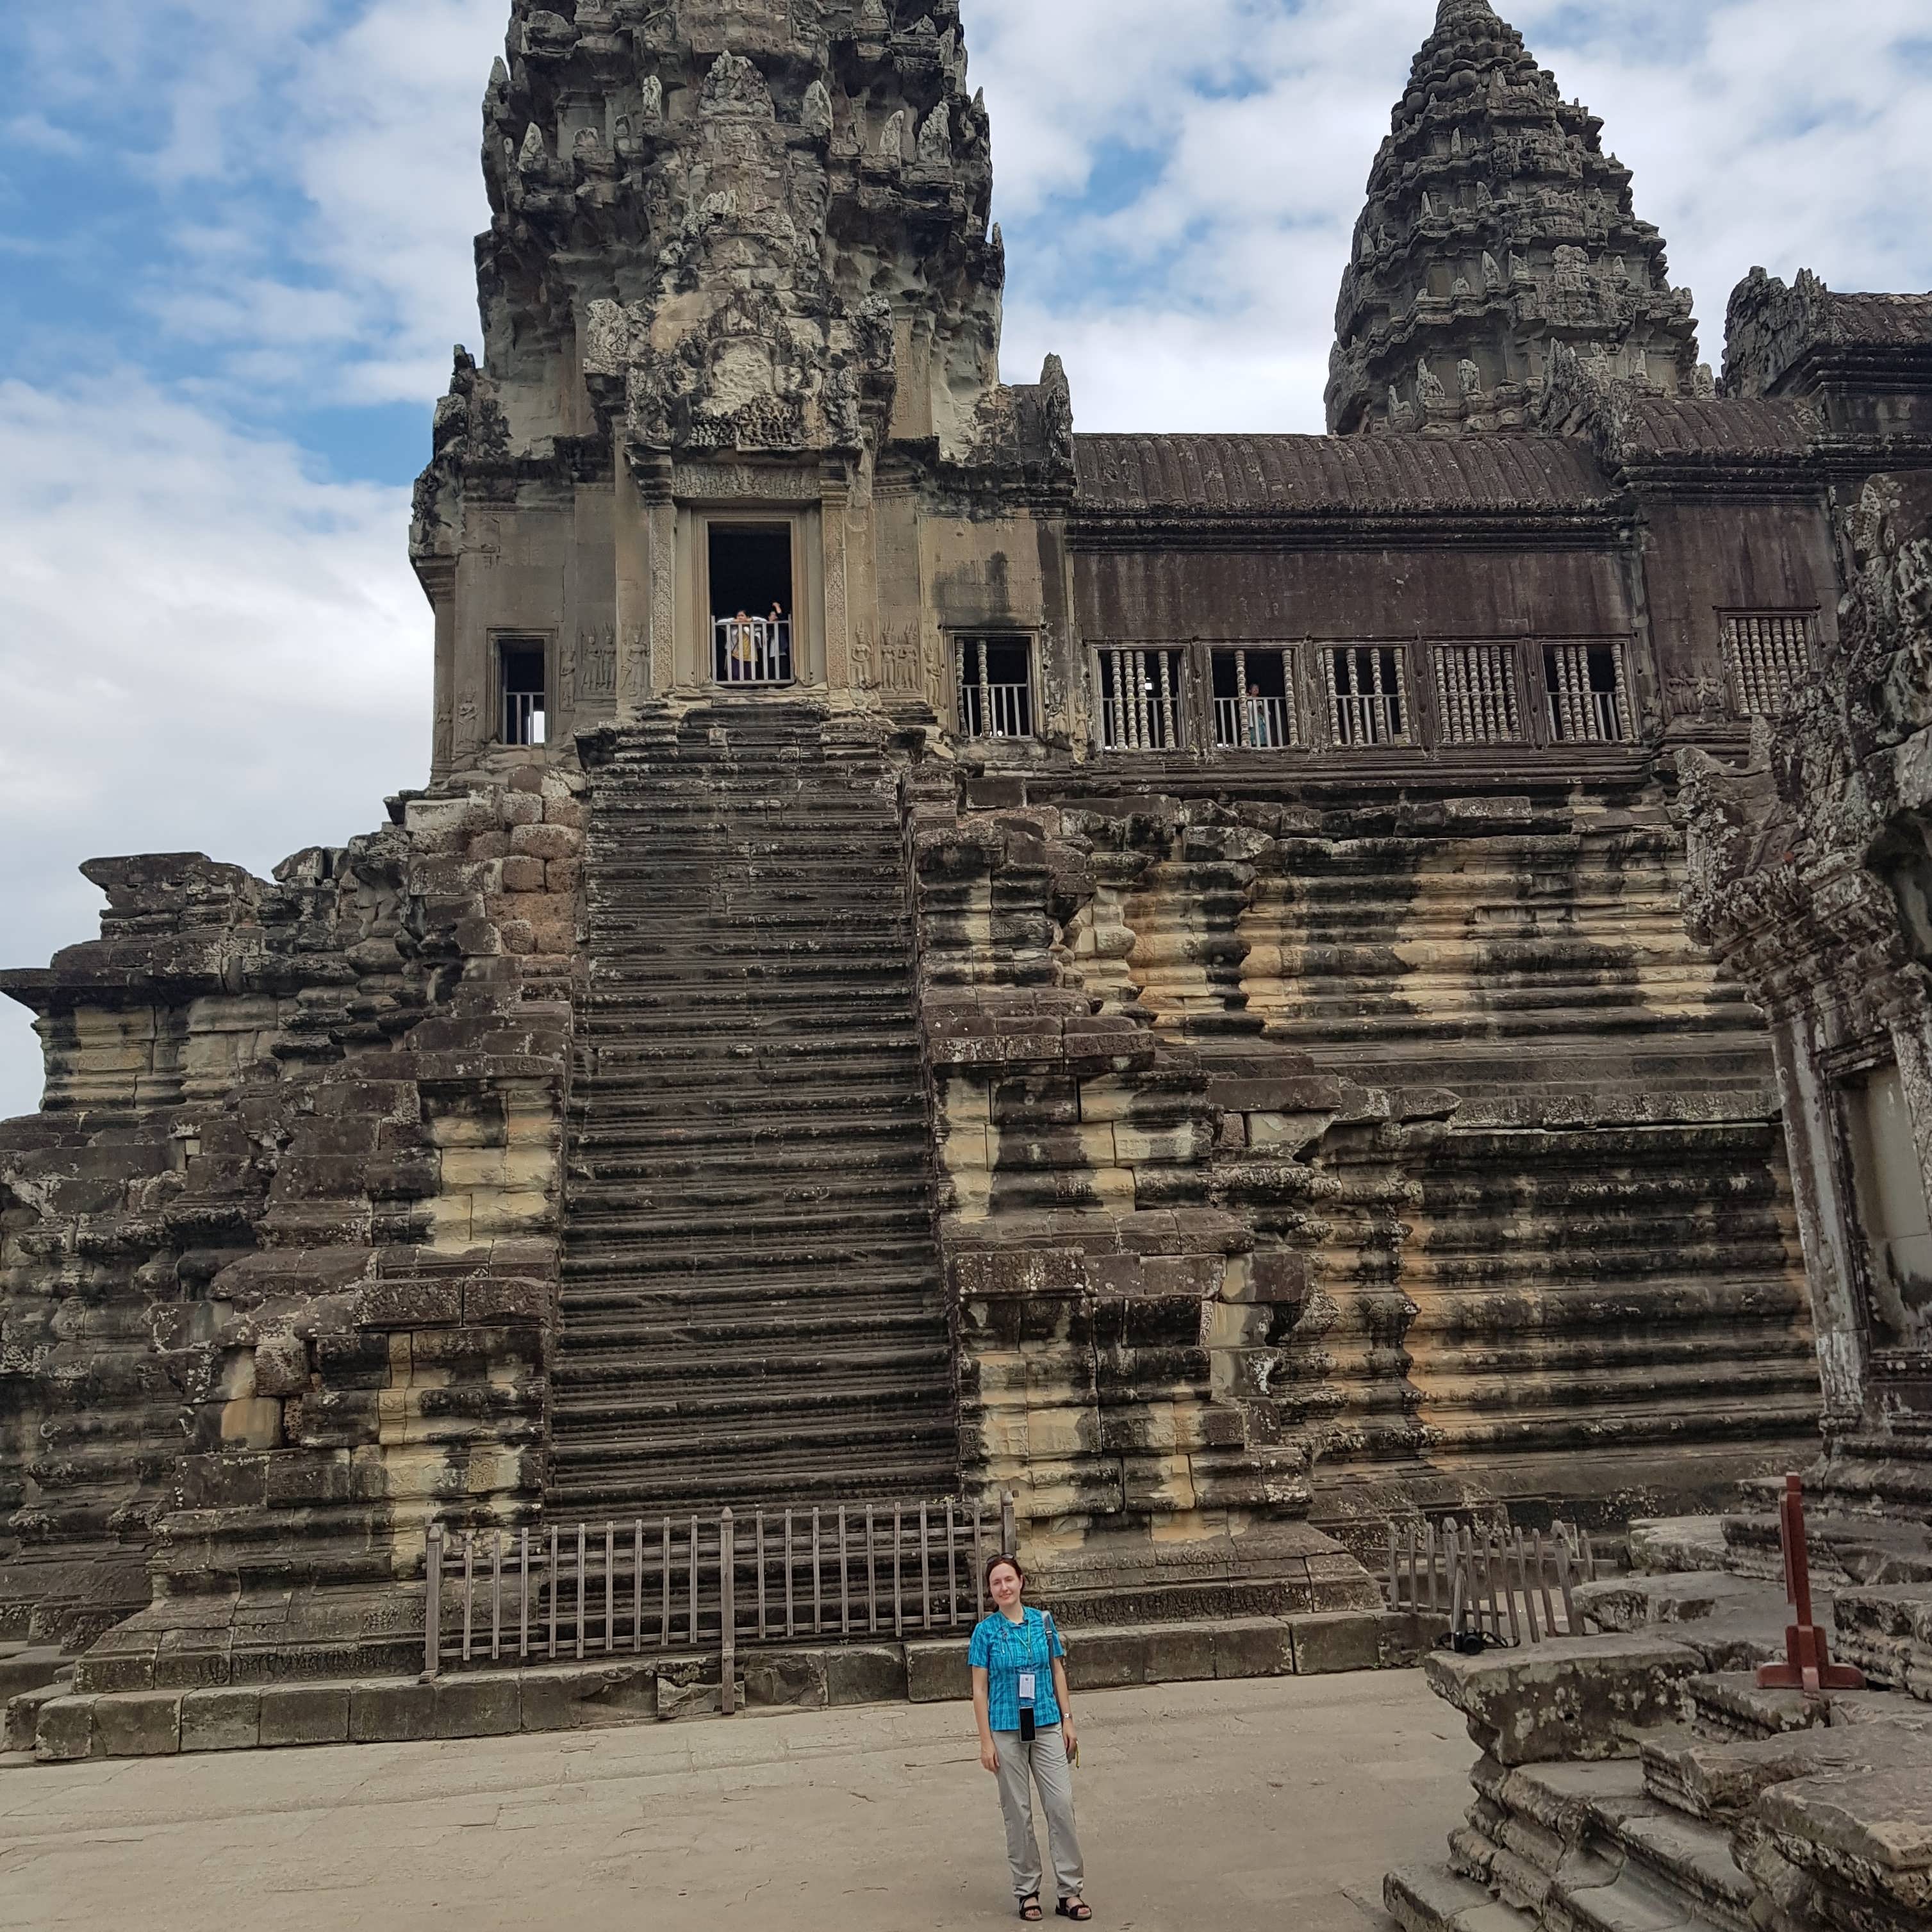
[[[265,871],[383,823],[427,769],[408,493],[317,483],[137,375],[0,383],[0,904],[8,966],[93,937],[85,858]],[[39,1097],[0,1022],[0,1117]]]

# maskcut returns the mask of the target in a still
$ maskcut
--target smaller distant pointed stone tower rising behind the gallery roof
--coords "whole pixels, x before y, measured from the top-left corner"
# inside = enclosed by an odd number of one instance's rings
[[[1604,381],[1700,390],[1690,296],[1602,126],[1488,0],[1441,0],[1343,274],[1335,435],[1522,429],[1565,348]]]

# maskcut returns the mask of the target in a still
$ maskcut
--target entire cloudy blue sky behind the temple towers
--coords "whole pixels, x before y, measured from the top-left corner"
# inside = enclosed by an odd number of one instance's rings
[[[1435,0],[964,0],[1007,365],[1084,429],[1321,427],[1347,236]],[[1754,265],[1932,288],[1926,0],[1517,0],[1721,357]],[[0,8],[0,964],[73,867],[267,869],[425,775],[408,483],[475,342],[506,0]],[[39,1097],[0,1014],[0,1117]]]

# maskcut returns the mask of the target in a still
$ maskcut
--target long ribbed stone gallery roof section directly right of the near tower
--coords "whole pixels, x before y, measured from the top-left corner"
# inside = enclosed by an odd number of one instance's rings
[[[1561,437],[1076,437],[1082,510],[1590,510],[1609,487]]]

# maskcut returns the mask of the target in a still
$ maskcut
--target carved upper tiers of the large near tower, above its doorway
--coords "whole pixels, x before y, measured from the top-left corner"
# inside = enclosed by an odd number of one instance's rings
[[[964,446],[1003,253],[956,0],[514,0],[485,99],[485,369],[512,444]],[[910,15],[918,14],[914,21]]]

